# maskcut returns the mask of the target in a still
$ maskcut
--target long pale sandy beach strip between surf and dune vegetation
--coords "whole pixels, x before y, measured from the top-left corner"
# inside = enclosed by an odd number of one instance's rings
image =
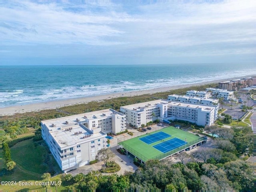
[[[242,77],[240,76],[240,77],[235,77],[232,79],[231,78],[220,79],[220,80],[194,83],[194,84],[159,87],[159,88],[154,88],[154,89],[150,89],[150,90],[119,92],[119,93],[92,96],[92,97],[82,97],[82,98],[74,98],[74,99],[67,99],[67,100],[58,100],[58,101],[28,104],[28,105],[23,105],[23,106],[10,106],[10,107],[0,108],[0,115],[1,116],[11,116],[11,115],[14,115],[17,113],[39,112],[41,110],[57,109],[57,108],[61,108],[64,106],[71,106],[71,105],[76,105],[76,104],[86,104],[88,102],[93,102],[93,101],[100,102],[102,100],[108,100],[108,99],[112,99],[112,98],[132,97],[132,96],[139,96],[139,95],[144,95],[144,94],[154,94],[154,93],[158,93],[158,92],[168,92],[170,90],[176,90],[176,89],[180,89],[180,88],[188,88],[188,87],[192,87],[192,86],[200,86],[200,85],[205,85],[205,84],[218,83],[218,82],[222,82],[222,81],[240,79],[240,78],[245,78],[245,77],[248,77],[248,76],[242,76]]]

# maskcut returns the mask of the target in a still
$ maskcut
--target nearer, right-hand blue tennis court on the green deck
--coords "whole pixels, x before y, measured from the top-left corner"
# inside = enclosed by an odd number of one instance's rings
[[[184,144],[187,144],[187,142],[185,142],[181,139],[178,139],[178,138],[172,138],[170,140],[167,140],[165,142],[157,144],[153,147],[156,148],[157,150],[161,151],[162,153],[166,153],[166,152],[173,150],[175,148],[178,148]]]

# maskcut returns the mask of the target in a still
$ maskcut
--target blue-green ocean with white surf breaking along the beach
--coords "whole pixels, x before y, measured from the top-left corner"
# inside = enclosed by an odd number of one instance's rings
[[[255,63],[0,66],[0,108],[252,74]]]

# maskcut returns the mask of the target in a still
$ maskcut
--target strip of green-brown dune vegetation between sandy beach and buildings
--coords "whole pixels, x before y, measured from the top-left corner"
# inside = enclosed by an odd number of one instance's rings
[[[17,120],[17,119],[25,119],[27,117],[34,117],[38,120],[47,120],[53,119],[63,116],[69,116],[72,114],[81,114],[91,111],[97,111],[107,108],[112,108],[114,110],[120,109],[120,106],[136,104],[141,102],[148,102],[156,99],[167,99],[168,95],[170,94],[186,94],[188,90],[205,90],[206,88],[213,87],[215,88],[218,84],[205,84],[200,86],[191,86],[187,88],[180,88],[170,90],[168,92],[158,92],[154,94],[144,94],[138,96],[131,96],[131,97],[119,97],[119,98],[111,98],[107,100],[102,100],[99,102],[89,102],[85,104],[77,104],[72,106],[64,106],[59,108],[58,110],[41,110],[40,112],[26,112],[22,114],[14,114],[12,116],[4,116],[3,119],[9,120]],[[67,100],[68,103],[68,100]]]

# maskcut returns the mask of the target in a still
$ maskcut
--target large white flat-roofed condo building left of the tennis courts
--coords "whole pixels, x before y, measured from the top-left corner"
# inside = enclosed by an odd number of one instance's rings
[[[125,115],[112,109],[72,115],[41,122],[42,138],[65,172],[95,160],[105,147],[107,132],[126,129]]]

